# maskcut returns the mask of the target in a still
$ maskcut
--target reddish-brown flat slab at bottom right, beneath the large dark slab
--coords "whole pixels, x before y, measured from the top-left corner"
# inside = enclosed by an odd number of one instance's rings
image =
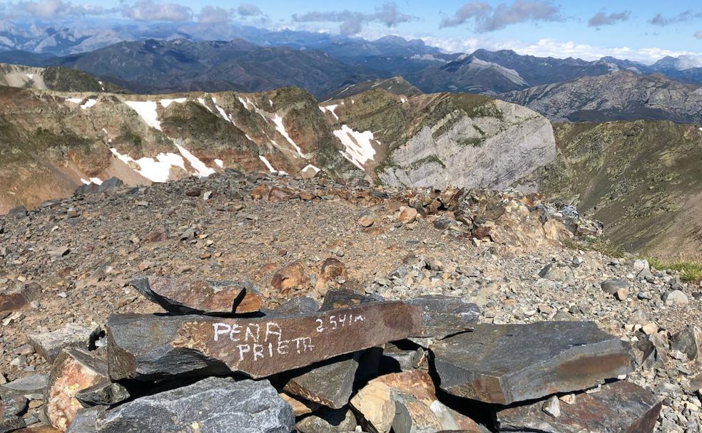
[[[661,402],[653,393],[631,382],[602,385],[599,392],[575,395],[575,403],[560,402],[560,416],[543,410],[544,402],[509,407],[497,412],[499,432],[622,432],[651,433]]]

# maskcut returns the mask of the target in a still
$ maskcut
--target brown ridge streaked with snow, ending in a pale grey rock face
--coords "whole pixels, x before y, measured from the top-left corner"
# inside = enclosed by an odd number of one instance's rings
[[[549,162],[555,148],[544,118],[476,95],[376,89],[320,105],[296,88],[158,98],[0,90],[2,212],[65,197],[81,182],[147,184],[226,167],[502,187]],[[407,155],[424,144],[420,157]],[[466,165],[479,176],[464,174]]]

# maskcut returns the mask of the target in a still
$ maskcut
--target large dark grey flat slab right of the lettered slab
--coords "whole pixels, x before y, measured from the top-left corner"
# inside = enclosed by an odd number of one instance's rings
[[[586,390],[635,369],[629,344],[591,322],[480,324],[431,350],[442,390],[501,405]]]

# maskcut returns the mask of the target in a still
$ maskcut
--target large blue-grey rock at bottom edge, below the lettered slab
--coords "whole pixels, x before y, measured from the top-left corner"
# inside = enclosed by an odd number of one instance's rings
[[[230,377],[208,377],[109,410],[87,409],[76,422],[82,430],[71,426],[68,432],[290,433],[295,428],[292,408],[268,380]]]

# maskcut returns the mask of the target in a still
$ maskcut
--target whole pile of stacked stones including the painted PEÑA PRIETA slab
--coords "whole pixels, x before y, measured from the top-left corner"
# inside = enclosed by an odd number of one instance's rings
[[[460,298],[345,288],[265,310],[246,282],[131,284],[168,314],[112,315],[106,359],[95,330],[34,338],[54,358],[45,431],[653,432],[661,410],[621,380],[636,368],[629,343],[591,322],[477,323]],[[2,432],[22,427],[18,391],[3,396]]]

